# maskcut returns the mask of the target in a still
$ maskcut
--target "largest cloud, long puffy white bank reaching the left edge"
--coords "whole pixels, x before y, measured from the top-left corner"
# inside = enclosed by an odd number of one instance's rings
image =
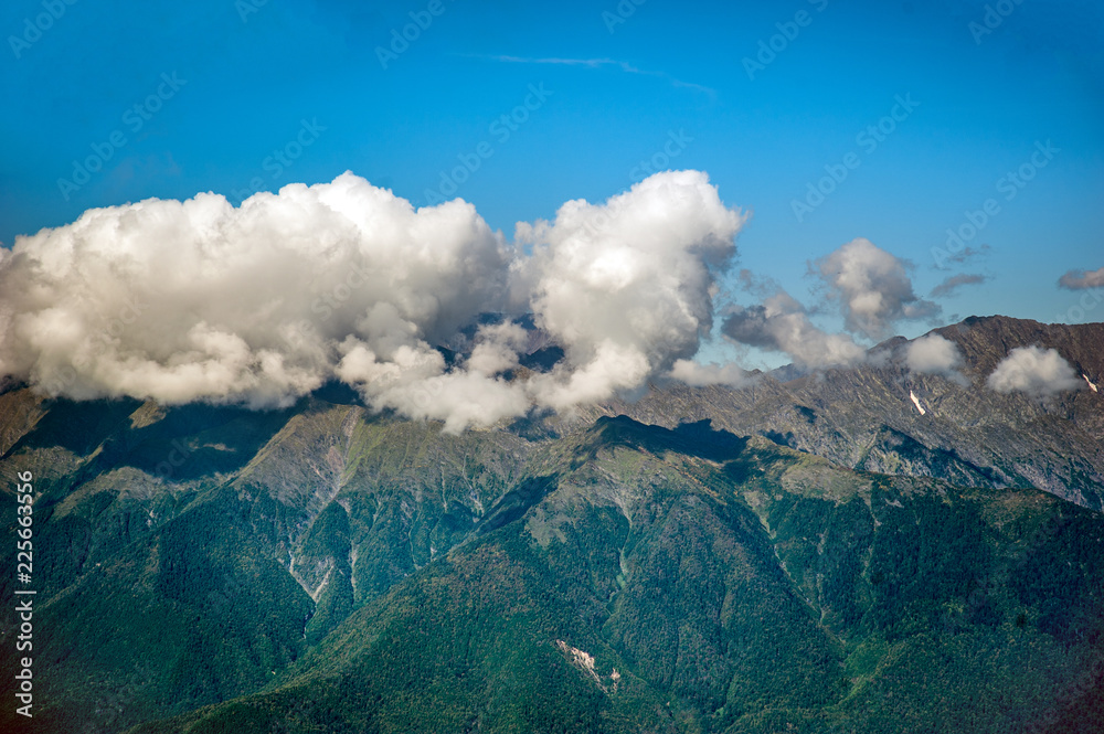
[[[75,398],[286,404],[350,337],[382,363],[432,360],[498,307],[508,263],[470,204],[414,211],[349,173],[240,209],[199,194],[91,210],[3,264],[0,371]]]

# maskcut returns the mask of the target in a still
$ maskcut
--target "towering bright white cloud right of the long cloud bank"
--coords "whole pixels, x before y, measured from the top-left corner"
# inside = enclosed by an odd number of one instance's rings
[[[560,208],[519,224],[532,245],[516,264],[538,327],[565,351],[530,380],[538,403],[563,408],[643,384],[688,359],[712,328],[714,274],[735,255],[744,217],[704,173],[652,175],[604,204]]]

